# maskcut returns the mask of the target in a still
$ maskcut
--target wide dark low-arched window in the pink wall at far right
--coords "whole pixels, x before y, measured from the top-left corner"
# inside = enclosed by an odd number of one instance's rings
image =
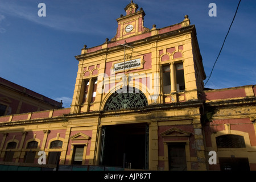
[[[245,148],[245,139],[240,135],[221,135],[216,143],[218,148]]]

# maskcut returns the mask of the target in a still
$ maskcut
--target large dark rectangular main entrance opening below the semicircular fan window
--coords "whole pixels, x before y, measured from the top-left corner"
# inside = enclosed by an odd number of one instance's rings
[[[101,165],[147,169],[147,136],[145,123],[103,127]]]

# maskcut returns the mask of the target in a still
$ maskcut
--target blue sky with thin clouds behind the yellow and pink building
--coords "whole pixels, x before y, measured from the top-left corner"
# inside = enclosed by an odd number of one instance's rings
[[[210,17],[209,3],[217,16]],[[217,58],[239,0],[134,0],[146,16],[144,26],[156,28],[189,15],[207,77]],[[46,17],[38,4],[46,4]],[[130,0],[0,0],[0,77],[34,90],[69,107],[77,64],[84,44],[94,47],[112,39]],[[242,0],[207,88],[251,85],[256,77],[256,1]],[[206,80],[205,80],[206,81]]]

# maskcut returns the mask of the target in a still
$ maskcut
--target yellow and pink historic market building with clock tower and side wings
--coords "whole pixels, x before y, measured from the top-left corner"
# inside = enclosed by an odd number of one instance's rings
[[[150,29],[133,1],[125,11],[114,38],[76,56],[70,108],[0,117],[1,164],[255,170],[255,85],[205,89],[187,15]],[[38,164],[39,151],[46,165]]]

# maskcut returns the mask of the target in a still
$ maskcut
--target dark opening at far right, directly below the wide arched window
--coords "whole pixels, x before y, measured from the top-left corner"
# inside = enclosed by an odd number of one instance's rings
[[[221,171],[250,171],[248,158],[218,158]]]

